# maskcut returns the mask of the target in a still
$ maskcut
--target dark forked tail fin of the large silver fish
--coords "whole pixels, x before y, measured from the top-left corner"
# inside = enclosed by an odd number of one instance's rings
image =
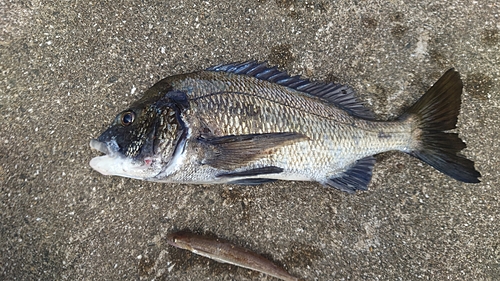
[[[410,155],[456,180],[477,183],[481,174],[474,162],[460,154],[465,143],[458,134],[444,132],[456,128],[462,88],[460,75],[452,68],[399,119],[416,119],[418,145]]]

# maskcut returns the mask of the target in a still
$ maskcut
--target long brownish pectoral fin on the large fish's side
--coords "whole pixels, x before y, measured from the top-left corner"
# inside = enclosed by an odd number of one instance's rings
[[[202,164],[224,170],[242,167],[274,149],[307,139],[307,136],[293,132],[198,138],[205,149]]]

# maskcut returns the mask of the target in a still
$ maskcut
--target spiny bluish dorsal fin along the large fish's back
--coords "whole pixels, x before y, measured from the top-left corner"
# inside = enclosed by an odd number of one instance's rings
[[[227,72],[255,77],[260,80],[279,84],[300,92],[327,100],[347,111],[349,114],[373,119],[373,113],[363,106],[354,96],[354,90],[342,84],[311,82],[299,75],[290,76],[277,67],[267,66],[267,62],[246,61],[242,63],[220,64],[207,68],[208,71]]]

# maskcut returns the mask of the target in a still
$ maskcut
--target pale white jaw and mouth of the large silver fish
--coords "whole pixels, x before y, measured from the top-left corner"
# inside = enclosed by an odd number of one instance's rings
[[[101,153],[102,156],[90,160],[92,169],[106,176],[122,176],[133,179],[147,179],[156,176],[161,171],[161,161],[153,157],[146,157],[142,161],[126,157],[118,151],[115,140],[101,142],[96,139],[90,141],[90,147]]]

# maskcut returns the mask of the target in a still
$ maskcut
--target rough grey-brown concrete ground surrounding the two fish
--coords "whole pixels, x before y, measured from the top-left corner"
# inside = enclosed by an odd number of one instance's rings
[[[251,248],[305,280],[500,279],[497,0],[0,1],[0,279],[274,280],[169,246]],[[402,153],[367,192],[169,185],[93,171],[89,140],[159,79],[268,60],[352,85],[380,119],[448,68],[482,183]]]

